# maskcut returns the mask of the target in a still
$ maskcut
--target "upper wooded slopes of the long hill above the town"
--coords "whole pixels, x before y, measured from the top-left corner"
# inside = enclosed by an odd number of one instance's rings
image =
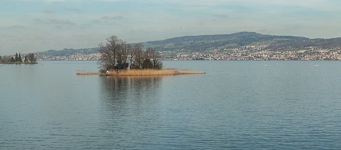
[[[142,43],[145,48],[158,51],[203,52],[211,49],[230,49],[247,45],[267,44],[267,49],[287,50],[306,47],[335,48],[341,47],[341,38],[304,38],[294,36],[272,36],[255,32],[239,32],[226,35],[186,36]]]

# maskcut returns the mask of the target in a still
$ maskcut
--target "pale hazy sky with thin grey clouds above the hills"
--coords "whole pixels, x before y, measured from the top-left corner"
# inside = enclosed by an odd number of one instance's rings
[[[341,0],[0,0],[0,56],[182,36],[341,37]]]

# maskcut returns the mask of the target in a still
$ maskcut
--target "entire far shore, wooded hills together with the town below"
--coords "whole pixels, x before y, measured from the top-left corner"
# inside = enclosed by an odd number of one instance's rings
[[[152,48],[161,60],[341,60],[341,38],[304,38],[239,32],[148,41],[142,50]],[[99,60],[100,47],[48,50],[34,53],[35,60]],[[19,53],[20,54],[20,53]],[[22,54],[25,56],[25,54]],[[13,62],[0,56],[0,62]],[[127,60],[132,56],[125,56]],[[15,61],[15,59],[14,59]]]

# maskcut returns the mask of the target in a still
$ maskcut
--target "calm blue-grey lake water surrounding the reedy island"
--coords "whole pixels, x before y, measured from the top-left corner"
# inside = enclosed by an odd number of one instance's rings
[[[97,71],[96,61],[1,64],[0,149],[341,147],[341,61],[163,63],[207,74],[76,75]]]

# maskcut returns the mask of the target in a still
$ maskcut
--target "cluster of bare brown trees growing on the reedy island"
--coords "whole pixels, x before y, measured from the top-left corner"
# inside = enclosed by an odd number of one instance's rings
[[[107,43],[100,43],[98,52],[101,56],[97,62],[103,70],[112,69],[162,69],[158,52],[152,48],[143,50],[142,44],[133,46],[115,36],[107,38]]]

